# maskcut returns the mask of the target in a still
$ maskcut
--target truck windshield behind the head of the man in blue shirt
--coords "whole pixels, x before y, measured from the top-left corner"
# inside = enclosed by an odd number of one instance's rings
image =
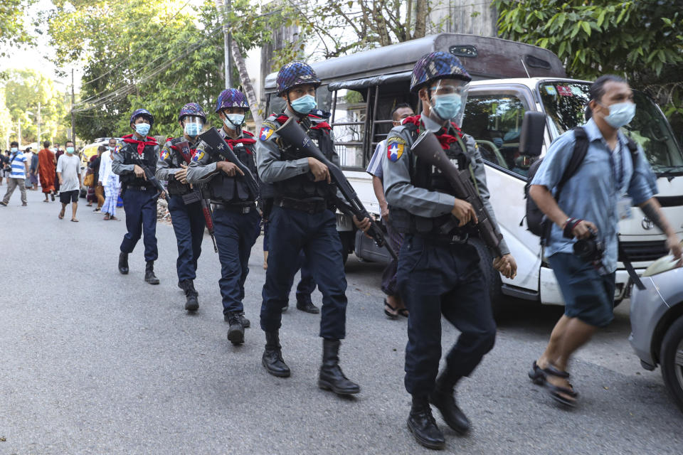
[[[553,138],[584,123],[588,102],[588,82],[544,81],[539,84],[541,102],[549,118]],[[669,122],[649,97],[633,90],[635,118],[623,131],[645,151],[656,173],[682,173],[683,153]]]

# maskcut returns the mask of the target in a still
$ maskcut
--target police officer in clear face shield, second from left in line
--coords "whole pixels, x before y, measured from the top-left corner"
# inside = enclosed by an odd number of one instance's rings
[[[169,212],[178,244],[178,287],[185,293],[185,309],[196,311],[199,301],[194,279],[206,223],[201,210],[201,195],[198,188],[187,183],[186,174],[198,134],[206,123],[206,114],[196,102],[190,102],[180,109],[178,123],[183,128],[183,135],[164,144],[157,161],[157,178],[169,182]]]

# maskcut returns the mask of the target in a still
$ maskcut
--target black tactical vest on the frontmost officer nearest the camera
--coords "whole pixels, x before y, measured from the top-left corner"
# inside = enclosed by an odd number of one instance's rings
[[[411,133],[413,141],[418,138],[418,127],[413,124],[406,125],[406,129]],[[462,139],[457,142],[452,142],[450,147],[444,150],[448,159],[458,169],[466,169],[470,166],[470,159],[465,154],[465,142]],[[429,191],[438,191],[439,193],[450,194],[455,196],[452,186],[448,183],[448,179],[443,176],[443,173],[434,166],[426,164],[423,160],[411,154],[411,184],[417,188],[425,188]],[[468,228],[453,228],[448,232],[443,232],[442,227],[452,220],[451,214],[446,213],[435,218],[426,218],[415,215],[403,208],[389,206],[389,213],[391,217],[391,224],[398,232],[404,234],[420,234],[420,235],[463,235],[469,232]]]

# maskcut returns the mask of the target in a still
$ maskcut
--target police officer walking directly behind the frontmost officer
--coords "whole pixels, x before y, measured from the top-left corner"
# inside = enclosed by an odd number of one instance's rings
[[[275,132],[287,119],[295,118],[327,158],[339,163],[334,151],[332,129],[320,117],[309,113],[316,107],[315,90],[320,80],[302,62],[287,63],[277,73],[277,95],[285,100],[280,115],[263,122],[258,137],[258,173],[273,183],[275,196],[270,213],[270,252],[263,286],[261,328],[265,331],[262,363],[268,373],[285,378],[290,368],[282,360],[279,329],[282,308],[287,304],[292,262],[304,250],[315,283],[322,292],[320,336],[323,338],[322,366],[318,386],[339,395],[358,393],[360,387],[339,368],[340,340],[346,335],[346,279],[342,242],[336,230],[332,206],[334,187],[329,169],[320,161],[304,156]],[[369,220],[354,220],[363,230]]]

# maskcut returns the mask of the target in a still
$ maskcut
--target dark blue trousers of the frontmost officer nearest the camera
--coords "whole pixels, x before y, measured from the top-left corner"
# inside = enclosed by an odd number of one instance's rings
[[[493,348],[496,324],[475,247],[407,235],[398,257],[398,288],[406,304],[406,390],[434,389],[441,358],[441,315],[459,331],[446,355],[452,377],[468,376]]]

